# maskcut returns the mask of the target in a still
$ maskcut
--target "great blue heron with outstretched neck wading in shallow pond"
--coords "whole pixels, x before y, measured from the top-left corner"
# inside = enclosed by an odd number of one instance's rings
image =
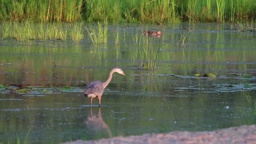
[[[91,98],[90,106],[92,106],[92,99],[97,97],[99,99],[99,107],[100,107],[101,95],[103,94],[104,89],[107,87],[107,85],[111,81],[114,73],[119,73],[125,76],[124,71],[121,68],[118,68],[118,67],[113,68],[110,71],[109,77],[106,82],[102,83],[100,81],[95,81],[90,83],[89,86],[86,87],[84,91],[84,95],[85,97]]]

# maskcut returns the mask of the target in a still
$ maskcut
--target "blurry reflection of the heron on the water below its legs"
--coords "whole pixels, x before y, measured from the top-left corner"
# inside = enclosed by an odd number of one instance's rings
[[[91,116],[88,116],[87,119],[84,121],[87,128],[90,131],[91,136],[94,138],[110,138],[112,137],[111,130],[109,126],[103,121],[101,117],[101,110],[100,107],[96,108],[99,109],[98,114],[93,114],[93,108],[91,107]],[[95,109],[94,109],[95,112]]]

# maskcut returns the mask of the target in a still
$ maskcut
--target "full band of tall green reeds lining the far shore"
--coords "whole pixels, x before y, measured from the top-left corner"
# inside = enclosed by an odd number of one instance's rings
[[[0,0],[0,21],[236,22],[254,21],[254,0]]]

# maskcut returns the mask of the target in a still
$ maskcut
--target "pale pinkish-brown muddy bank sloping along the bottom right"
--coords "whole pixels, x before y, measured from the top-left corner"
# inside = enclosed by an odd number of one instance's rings
[[[77,140],[65,144],[82,143],[255,143],[256,125],[230,127],[228,129],[205,132],[170,132],[165,134],[143,134],[140,136],[115,137],[96,141]]]

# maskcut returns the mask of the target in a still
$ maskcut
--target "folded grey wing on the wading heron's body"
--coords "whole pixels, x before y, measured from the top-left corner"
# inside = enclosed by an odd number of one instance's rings
[[[84,91],[84,94],[94,94],[97,96],[101,96],[103,93],[104,87],[102,82],[95,81],[92,82],[89,86],[86,87],[86,90]]]

